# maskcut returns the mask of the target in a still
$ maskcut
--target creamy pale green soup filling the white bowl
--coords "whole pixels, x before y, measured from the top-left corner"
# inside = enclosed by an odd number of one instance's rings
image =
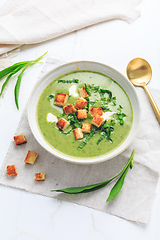
[[[71,81],[58,82],[62,79]],[[72,82],[73,79],[78,79],[78,82]],[[82,149],[78,149],[89,133],[84,134],[83,139],[75,140],[73,126],[70,125],[65,131],[61,131],[56,126],[56,122],[48,121],[47,116],[50,113],[68,120],[68,116],[63,114],[63,107],[54,104],[55,97],[57,93],[66,93],[69,96],[67,104],[74,105],[80,97],[78,89],[84,86],[90,93],[86,108],[102,108],[103,112],[111,116],[102,124],[106,126],[105,132],[102,131],[102,126],[97,128],[91,124],[91,132],[95,133]],[[83,122],[91,123],[93,117],[90,115],[89,108],[87,119],[78,120],[79,126]],[[128,136],[133,117],[132,106],[126,92],[113,79],[90,71],[71,72],[54,80],[41,94],[36,114],[38,126],[45,141],[57,151],[80,158],[96,157],[116,149]]]

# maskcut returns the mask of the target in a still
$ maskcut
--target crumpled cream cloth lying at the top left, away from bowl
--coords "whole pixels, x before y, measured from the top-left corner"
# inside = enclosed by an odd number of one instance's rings
[[[0,55],[100,22],[128,22],[141,0],[10,0],[0,9]]]

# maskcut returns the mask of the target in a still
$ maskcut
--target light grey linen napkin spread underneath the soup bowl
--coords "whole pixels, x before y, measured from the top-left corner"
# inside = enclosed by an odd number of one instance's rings
[[[60,64],[62,64],[61,61],[49,58],[40,77]],[[27,143],[16,146],[14,141],[11,142],[0,171],[0,183],[87,206],[131,221],[147,223],[151,216],[160,172],[160,126],[144,90],[137,88],[137,92],[143,108],[142,123],[136,138],[119,156],[95,165],[68,163],[46,152],[36,142],[30,131],[25,108],[15,135],[23,133],[27,138]],[[160,106],[160,91],[152,89],[152,94]],[[114,183],[95,192],[78,195],[50,191],[65,187],[85,186],[110,179],[123,169],[133,149],[136,149],[133,169],[128,171],[120,193],[110,202],[106,203],[106,199]],[[39,154],[34,165],[24,163],[28,150]],[[16,165],[17,176],[11,177],[6,174],[6,166],[9,164]],[[35,181],[36,172],[45,172],[46,180]]]

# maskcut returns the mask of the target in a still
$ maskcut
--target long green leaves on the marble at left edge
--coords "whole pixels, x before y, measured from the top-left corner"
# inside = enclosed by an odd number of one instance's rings
[[[46,52],[47,53],[47,52]],[[46,54],[45,53],[45,54]],[[18,62],[13,64],[10,67],[7,67],[5,69],[3,69],[2,71],[0,71],[0,79],[2,79],[3,77],[7,76],[5,82],[2,85],[1,88],[1,92],[0,92],[0,96],[2,95],[7,83],[9,82],[10,78],[16,74],[17,72],[19,72],[21,69],[23,69],[21,71],[21,73],[18,76],[16,85],[15,85],[15,89],[14,89],[14,96],[15,96],[15,103],[16,103],[16,107],[17,109],[19,109],[19,105],[18,105],[18,98],[19,98],[19,90],[20,90],[20,84],[21,84],[21,80],[22,80],[22,75],[24,73],[24,71],[29,67],[32,66],[33,64],[38,63],[38,61],[45,55],[43,54],[42,56],[40,56],[39,58],[32,60],[32,61],[24,61],[24,62]],[[40,62],[39,62],[40,63]]]

